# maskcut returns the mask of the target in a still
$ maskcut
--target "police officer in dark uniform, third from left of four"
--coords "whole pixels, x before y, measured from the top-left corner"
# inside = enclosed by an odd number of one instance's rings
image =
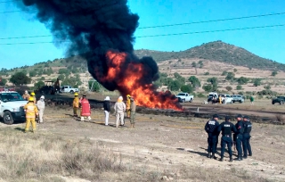
[[[241,120],[242,116],[241,114],[237,115],[237,123],[235,124],[235,128],[238,130],[238,132],[236,133],[236,147],[237,147],[237,151],[238,151],[238,161],[242,161],[242,138],[243,138],[243,121]]]

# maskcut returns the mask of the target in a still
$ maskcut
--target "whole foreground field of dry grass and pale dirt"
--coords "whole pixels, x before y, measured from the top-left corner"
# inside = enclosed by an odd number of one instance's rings
[[[0,181],[285,180],[284,125],[254,123],[253,156],[229,162],[226,153],[221,162],[206,157],[207,120],[137,114],[136,128],[127,119],[126,127],[114,128],[113,115],[104,126],[102,111],[93,111],[94,122],[74,120],[71,112],[47,107],[36,134],[23,133],[23,123],[1,123]]]

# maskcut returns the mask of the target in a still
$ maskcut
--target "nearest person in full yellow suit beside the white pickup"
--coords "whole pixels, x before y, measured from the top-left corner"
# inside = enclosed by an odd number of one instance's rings
[[[38,115],[37,105],[34,103],[34,97],[28,98],[28,103],[24,106],[24,110],[26,112],[26,128],[25,132],[28,132],[30,127],[30,123],[32,123],[33,132],[36,131],[36,116]]]

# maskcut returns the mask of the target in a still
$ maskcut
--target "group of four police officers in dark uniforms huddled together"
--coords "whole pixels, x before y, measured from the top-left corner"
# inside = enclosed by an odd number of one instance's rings
[[[242,116],[238,114],[236,116],[237,123],[235,125],[231,122],[231,117],[226,116],[224,122],[219,124],[217,121],[219,116],[213,115],[212,120],[208,120],[205,125],[205,131],[208,133],[208,158],[216,159],[216,147],[218,144],[218,136],[222,132],[221,137],[221,158],[220,161],[224,161],[224,150],[227,145],[228,153],[230,155],[230,161],[232,161],[232,145],[235,145],[238,151],[238,157],[236,160],[242,161],[247,159],[248,156],[252,156],[250,146],[250,132],[252,124],[249,121],[248,116]],[[233,139],[232,139],[233,133]]]

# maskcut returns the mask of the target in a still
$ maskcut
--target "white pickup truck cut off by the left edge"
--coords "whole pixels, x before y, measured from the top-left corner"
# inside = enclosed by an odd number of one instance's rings
[[[15,120],[26,120],[25,104],[27,101],[18,92],[0,91],[0,118],[9,125],[12,125]]]

